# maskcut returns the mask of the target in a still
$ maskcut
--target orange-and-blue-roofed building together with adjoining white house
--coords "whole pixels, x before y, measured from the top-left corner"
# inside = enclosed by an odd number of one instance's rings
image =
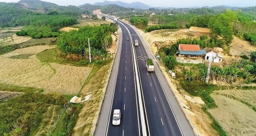
[[[223,59],[222,55],[218,54],[211,48],[208,50],[200,50],[199,45],[180,44],[179,55],[183,57],[202,57],[205,60],[212,61],[214,63],[219,63]]]

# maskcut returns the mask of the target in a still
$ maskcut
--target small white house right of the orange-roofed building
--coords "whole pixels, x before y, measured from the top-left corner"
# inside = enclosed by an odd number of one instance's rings
[[[211,48],[206,50],[205,60],[212,61],[214,63],[219,63],[222,61],[222,55],[218,54],[218,52],[212,50]]]

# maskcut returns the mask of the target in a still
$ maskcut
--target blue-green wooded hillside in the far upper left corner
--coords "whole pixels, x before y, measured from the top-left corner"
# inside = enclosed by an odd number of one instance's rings
[[[36,9],[34,9],[36,11]],[[81,16],[82,10],[77,8],[76,6],[68,6],[68,7],[62,7],[56,5],[55,7],[52,7],[50,9],[45,9],[45,15],[39,14],[36,12],[33,12],[33,9],[26,9],[24,5],[19,3],[0,3],[0,26],[1,27],[16,27],[16,26],[22,26],[22,25],[29,25],[29,22],[35,22],[36,20],[40,20],[39,23],[58,23],[58,22],[52,22],[52,21],[60,21],[62,20],[56,20],[56,18],[53,18],[51,16],[47,15],[58,15],[59,18],[64,18],[66,20],[66,17],[74,18]],[[47,18],[49,18],[47,20]],[[44,22],[42,22],[44,20]],[[45,22],[46,21],[46,22]],[[57,26],[57,25],[56,25]],[[63,24],[63,26],[66,26]]]

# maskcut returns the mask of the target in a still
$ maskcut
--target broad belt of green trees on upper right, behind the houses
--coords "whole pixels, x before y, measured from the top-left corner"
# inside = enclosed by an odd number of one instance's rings
[[[210,14],[208,14],[210,13]],[[215,39],[218,46],[229,46],[233,40],[233,35],[248,40],[255,45],[256,15],[245,13],[240,10],[225,10],[222,13],[206,10],[193,9],[189,14],[175,15],[153,15],[150,20],[159,26],[150,26],[146,32],[156,29],[170,29],[170,22],[179,24],[178,28],[189,28],[191,26],[210,28],[211,37]],[[161,26],[164,24],[164,26]]]

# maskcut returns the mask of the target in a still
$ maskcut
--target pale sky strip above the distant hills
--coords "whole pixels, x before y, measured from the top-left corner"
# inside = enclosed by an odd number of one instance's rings
[[[83,5],[86,3],[93,4],[95,2],[103,2],[105,0],[42,0],[45,2],[51,2],[58,5]],[[118,1],[118,0],[108,0]],[[120,1],[120,0],[119,0]],[[149,5],[150,7],[174,7],[174,8],[188,8],[188,7],[203,7],[203,6],[216,6],[227,5],[231,7],[254,7],[256,6],[256,0],[121,0],[122,2],[132,3],[141,2]],[[0,2],[19,2],[19,0],[0,0]]]

